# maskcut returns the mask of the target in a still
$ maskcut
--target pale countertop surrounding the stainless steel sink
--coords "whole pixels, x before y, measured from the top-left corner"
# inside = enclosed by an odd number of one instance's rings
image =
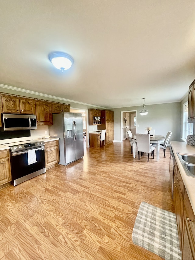
[[[193,208],[193,212],[195,214],[195,177],[187,176],[185,173],[185,170],[183,169],[182,163],[179,160],[179,157],[177,155],[178,153],[184,153],[184,154],[193,154],[195,155],[195,146],[189,145],[185,142],[176,142],[171,141],[170,142],[172,150],[175,155],[175,159],[177,162],[177,166],[179,168],[179,172],[181,173],[183,183],[185,185],[188,197],[190,199],[190,203]]]

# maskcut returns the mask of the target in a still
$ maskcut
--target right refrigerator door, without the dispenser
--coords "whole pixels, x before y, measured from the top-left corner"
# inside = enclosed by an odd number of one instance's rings
[[[75,138],[75,158],[76,160],[83,157],[83,116],[79,113],[74,113],[74,121],[76,125]]]

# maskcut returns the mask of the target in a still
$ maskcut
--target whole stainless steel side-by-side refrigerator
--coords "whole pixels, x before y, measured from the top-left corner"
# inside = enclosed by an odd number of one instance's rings
[[[51,137],[59,138],[60,162],[67,165],[83,157],[83,116],[79,113],[53,114]]]

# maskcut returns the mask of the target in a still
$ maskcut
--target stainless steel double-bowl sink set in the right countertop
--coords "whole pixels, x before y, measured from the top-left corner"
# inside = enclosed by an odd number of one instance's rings
[[[186,175],[195,177],[195,155],[177,153]]]

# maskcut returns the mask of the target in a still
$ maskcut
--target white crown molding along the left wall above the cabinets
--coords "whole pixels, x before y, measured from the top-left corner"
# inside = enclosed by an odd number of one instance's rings
[[[29,93],[29,94],[33,94],[33,95],[38,95],[38,96],[41,96],[41,97],[53,98],[53,99],[58,99],[58,100],[66,101],[66,102],[73,102],[73,103],[76,103],[76,104],[106,109],[105,107],[100,107],[100,106],[97,106],[97,105],[91,105],[91,104],[87,104],[87,103],[83,103],[83,102],[79,102],[79,101],[75,101],[75,100],[70,100],[70,99],[66,99],[66,98],[59,98],[59,97],[55,97],[55,96],[51,96],[51,95],[48,95],[48,94],[43,94],[43,93],[27,90],[27,89],[23,89],[23,88],[19,88],[19,87],[12,87],[12,86],[4,85],[4,84],[0,84],[0,87],[5,88],[5,89],[15,90],[15,91],[21,91],[21,92]]]

